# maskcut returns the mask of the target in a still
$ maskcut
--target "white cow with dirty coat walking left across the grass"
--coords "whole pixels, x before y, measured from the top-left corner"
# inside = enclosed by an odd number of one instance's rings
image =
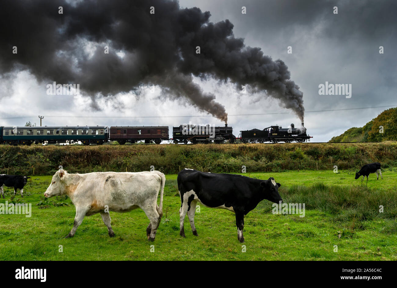
[[[148,240],[154,241],[163,215],[163,194],[166,178],[160,171],[144,172],[93,172],[69,174],[58,170],[45,197],[67,195],[76,207],[73,228],[66,238],[73,237],[85,215],[100,213],[114,237],[108,211],[128,212],[138,207],[145,211],[150,223],[146,229]],[[160,206],[157,206],[158,192]]]

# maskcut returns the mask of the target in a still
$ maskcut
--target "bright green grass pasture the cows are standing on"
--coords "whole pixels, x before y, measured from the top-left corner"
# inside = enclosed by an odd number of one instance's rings
[[[246,173],[274,177],[283,200],[305,203],[306,211],[304,217],[274,215],[272,203],[260,202],[245,216],[244,244],[237,241],[233,213],[203,206],[195,216],[199,236],[192,235],[187,217],[186,238],[179,236],[175,174],[166,175],[164,216],[154,242],[146,240],[149,220],[141,209],[110,213],[114,238],[97,214],[86,216],[75,236],[64,239],[75,207],[66,197],[44,199],[51,176],[33,176],[23,198],[13,198],[12,188],[5,187],[6,199],[0,203],[32,203],[32,214],[0,215],[0,260],[397,260],[397,170],[385,169],[378,181],[371,174],[368,186],[365,180],[361,186],[354,174]],[[379,213],[380,205],[384,213]]]

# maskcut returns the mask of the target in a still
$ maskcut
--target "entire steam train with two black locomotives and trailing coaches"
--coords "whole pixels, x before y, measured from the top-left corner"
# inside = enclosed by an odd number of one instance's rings
[[[2,127],[0,126],[0,143],[10,145],[31,145],[32,143],[82,143],[84,145],[102,145],[109,141],[119,144],[144,143],[277,143],[283,141],[298,143],[310,141],[303,123],[299,128],[291,124],[289,128],[269,126],[263,130],[252,129],[240,131],[239,137],[233,135],[233,128],[227,126],[179,125],[173,127],[169,138],[168,126],[41,126],[41,127]]]

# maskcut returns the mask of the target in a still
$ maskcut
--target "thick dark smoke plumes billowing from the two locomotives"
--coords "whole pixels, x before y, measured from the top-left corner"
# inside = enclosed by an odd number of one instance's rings
[[[209,12],[180,9],[178,2],[165,0],[89,0],[73,5],[3,0],[0,73],[27,69],[38,81],[79,83],[93,99],[159,85],[162,95],[192,103],[226,122],[224,106],[193,83],[195,75],[263,91],[303,121],[303,93],[285,63],[235,38],[229,20],[212,23],[209,17]],[[92,55],[84,49],[89,43],[94,43]],[[11,54],[13,46],[17,54]],[[104,46],[109,46],[109,54]],[[98,108],[95,102],[93,106]]]

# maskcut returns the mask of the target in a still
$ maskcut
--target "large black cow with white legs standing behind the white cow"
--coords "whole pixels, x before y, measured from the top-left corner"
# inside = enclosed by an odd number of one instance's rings
[[[274,178],[253,179],[235,174],[206,173],[185,169],[178,173],[178,190],[181,196],[179,209],[180,235],[185,237],[183,221],[189,217],[193,235],[198,236],[195,228],[197,202],[210,208],[227,209],[236,214],[237,239],[243,243],[244,215],[254,209],[263,199],[274,203],[282,201],[278,193],[281,184]]]

